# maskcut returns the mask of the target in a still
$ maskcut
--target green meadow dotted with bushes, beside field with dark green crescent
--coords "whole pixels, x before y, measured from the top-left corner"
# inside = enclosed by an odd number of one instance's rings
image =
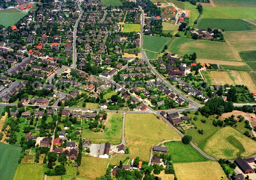
[[[204,139],[208,139],[212,134],[214,134],[215,132],[217,132],[220,129],[219,126],[215,127],[214,125],[212,125],[212,121],[214,119],[216,120],[216,118],[213,116],[206,118],[206,117],[202,116],[200,112],[199,112],[199,115],[195,115],[194,113],[189,113],[188,116],[191,120],[195,116],[198,118],[197,121],[192,120],[192,122],[194,122],[195,125],[197,126],[197,129],[193,128],[193,129],[186,131],[186,135],[192,136],[192,141],[196,145],[199,145]],[[201,122],[202,119],[206,119],[206,123],[202,123]],[[197,132],[198,129],[204,130],[203,135],[201,135]]]

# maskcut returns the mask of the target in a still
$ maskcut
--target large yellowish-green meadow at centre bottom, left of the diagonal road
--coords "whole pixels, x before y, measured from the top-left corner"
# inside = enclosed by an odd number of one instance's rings
[[[130,157],[139,156],[144,161],[149,160],[151,147],[162,139],[181,138],[168,124],[153,114],[126,114],[124,132]]]

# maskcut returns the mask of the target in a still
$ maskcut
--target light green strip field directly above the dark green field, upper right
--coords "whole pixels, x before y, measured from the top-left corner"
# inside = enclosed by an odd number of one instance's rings
[[[207,7],[203,8],[201,18],[212,19],[256,19],[256,8],[252,7]]]

